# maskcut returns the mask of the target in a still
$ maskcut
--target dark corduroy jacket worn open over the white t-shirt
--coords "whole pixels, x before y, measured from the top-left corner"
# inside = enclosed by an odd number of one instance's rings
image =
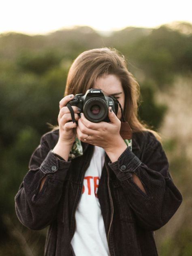
[[[38,230],[50,225],[46,256],[72,256],[75,211],[94,146],[82,143],[83,156],[66,162],[51,152],[58,137],[58,130],[42,136],[15,196],[15,207],[26,227]],[[132,173],[139,177],[147,194],[134,183]],[[111,256],[158,255],[153,230],[170,220],[182,196],[169,173],[162,145],[151,132],[133,133],[132,151],[127,148],[116,162],[111,163],[106,155],[98,199]]]

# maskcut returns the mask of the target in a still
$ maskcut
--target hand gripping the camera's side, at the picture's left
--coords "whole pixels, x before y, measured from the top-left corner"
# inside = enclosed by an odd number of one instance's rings
[[[76,136],[76,128],[77,128],[77,124],[73,123],[72,121],[69,122],[70,120],[72,120],[71,118],[71,113],[68,109],[68,107],[66,107],[67,103],[70,100],[73,100],[74,95],[67,95],[64,98],[62,98],[62,100],[60,100],[60,112],[58,115],[58,124],[59,124],[59,141],[62,143],[65,143],[67,145],[73,145],[74,141],[75,141],[75,136]],[[79,109],[78,107],[72,106],[74,113],[75,113],[75,120],[78,121],[78,119],[80,118],[78,113],[81,112],[81,109]]]

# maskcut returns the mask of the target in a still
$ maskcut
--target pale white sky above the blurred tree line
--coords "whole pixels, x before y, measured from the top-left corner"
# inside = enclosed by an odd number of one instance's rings
[[[2,0],[0,33],[46,34],[73,26],[113,31],[192,23],[191,0]]]

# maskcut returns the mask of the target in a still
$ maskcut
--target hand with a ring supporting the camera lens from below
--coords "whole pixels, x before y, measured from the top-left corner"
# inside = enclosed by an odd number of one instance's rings
[[[78,138],[83,142],[102,147],[105,151],[114,150],[114,147],[118,145],[121,146],[122,143],[124,143],[124,140],[119,134],[121,121],[110,109],[111,107],[108,108],[110,123],[90,122],[85,118],[83,113],[81,113],[81,118],[79,118],[77,126]],[[86,139],[87,137],[88,139]]]

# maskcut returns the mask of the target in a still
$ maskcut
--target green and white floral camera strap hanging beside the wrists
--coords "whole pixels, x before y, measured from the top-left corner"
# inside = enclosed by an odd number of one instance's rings
[[[124,141],[128,146],[128,148],[132,151],[132,139],[125,139]],[[83,156],[83,147],[81,145],[81,141],[76,136],[75,142],[73,143],[73,147],[70,151],[68,160],[74,159],[78,156]]]

